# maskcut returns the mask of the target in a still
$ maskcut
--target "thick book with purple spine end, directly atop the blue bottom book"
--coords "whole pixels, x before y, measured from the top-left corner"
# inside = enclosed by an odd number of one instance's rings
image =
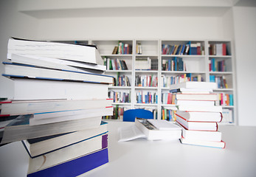
[[[77,142],[74,145],[60,148],[42,156],[30,158],[28,173],[35,173],[106,147],[108,147],[107,133],[89,139],[83,139],[83,141]]]

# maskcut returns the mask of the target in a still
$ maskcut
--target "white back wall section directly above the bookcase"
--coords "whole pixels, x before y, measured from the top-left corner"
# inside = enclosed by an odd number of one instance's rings
[[[42,19],[46,39],[223,38],[221,17],[90,17]]]

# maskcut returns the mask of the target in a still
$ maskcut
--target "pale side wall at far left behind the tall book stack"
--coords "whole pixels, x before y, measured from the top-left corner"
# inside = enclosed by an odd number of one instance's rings
[[[10,36],[18,38],[35,38],[38,30],[38,20],[18,13],[18,3],[15,0],[0,1],[0,62],[7,58],[7,42]],[[0,64],[2,74],[4,66]],[[0,97],[12,97],[13,82],[0,76]]]

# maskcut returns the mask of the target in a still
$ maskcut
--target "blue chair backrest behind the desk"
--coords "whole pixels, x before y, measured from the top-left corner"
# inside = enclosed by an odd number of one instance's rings
[[[153,113],[145,109],[129,109],[123,113],[124,122],[134,122],[135,118],[153,119]]]

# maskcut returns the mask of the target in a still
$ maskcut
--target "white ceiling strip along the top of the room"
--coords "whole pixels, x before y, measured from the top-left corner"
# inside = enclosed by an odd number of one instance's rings
[[[256,0],[20,0],[18,11],[35,18],[125,16],[222,16]]]

